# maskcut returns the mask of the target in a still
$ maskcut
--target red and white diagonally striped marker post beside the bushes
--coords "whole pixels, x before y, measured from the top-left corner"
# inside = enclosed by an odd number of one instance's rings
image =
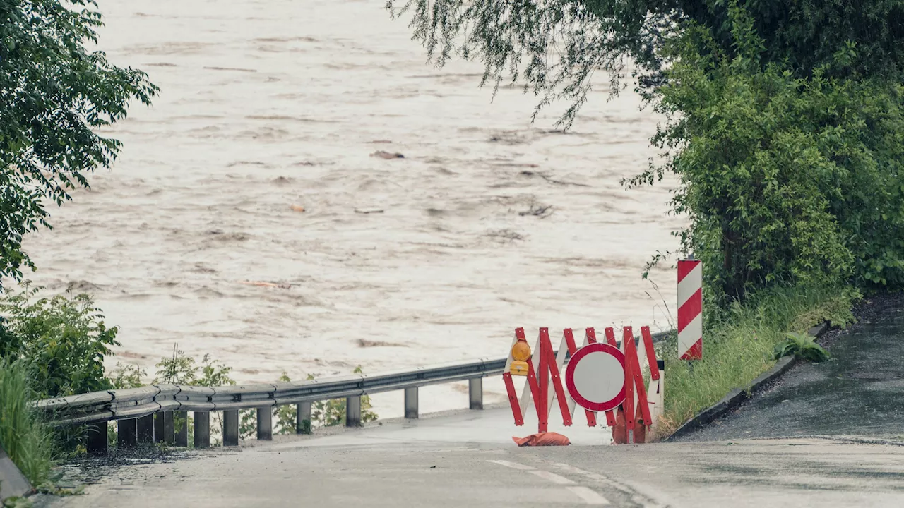
[[[699,259],[678,261],[678,356],[703,356],[703,265]]]

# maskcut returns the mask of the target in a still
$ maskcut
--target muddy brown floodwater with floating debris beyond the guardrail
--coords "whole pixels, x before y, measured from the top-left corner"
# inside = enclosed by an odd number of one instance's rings
[[[501,357],[517,326],[669,326],[673,272],[661,294],[640,274],[677,245],[673,182],[619,185],[660,118],[600,75],[568,134],[567,104],[532,125],[537,98],[429,65],[383,4],[100,2],[100,47],[162,91],[25,248],[35,283],[122,327],[111,366],[150,377],[178,343],[242,382],[303,379]],[[422,392],[422,411],[464,405],[464,383]]]

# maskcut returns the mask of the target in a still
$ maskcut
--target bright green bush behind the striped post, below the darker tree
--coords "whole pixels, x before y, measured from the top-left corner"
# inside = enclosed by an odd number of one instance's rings
[[[710,302],[785,283],[904,285],[904,87],[858,75],[852,43],[798,76],[765,60],[747,11],[727,23],[734,52],[701,26],[664,50],[655,107],[669,122],[654,144],[669,156],[626,183],[681,179],[683,249],[702,259]]]

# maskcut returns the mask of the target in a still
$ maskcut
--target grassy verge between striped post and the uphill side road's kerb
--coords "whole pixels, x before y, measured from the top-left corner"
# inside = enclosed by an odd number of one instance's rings
[[[703,359],[693,366],[678,360],[676,337],[666,341],[661,354],[666,362],[665,434],[671,434],[730,390],[749,388],[751,381],[775,364],[773,349],[785,339],[786,332],[805,332],[824,321],[851,324],[851,308],[860,297],[852,287],[836,286],[763,291],[744,305],[734,304],[707,320]]]

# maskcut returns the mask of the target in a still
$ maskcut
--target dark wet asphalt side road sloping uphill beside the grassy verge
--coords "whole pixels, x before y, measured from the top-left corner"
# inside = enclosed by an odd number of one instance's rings
[[[871,298],[857,314],[857,325],[820,341],[830,347],[828,362],[799,362],[738,409],[675,441],[796,436],[904,439],[904,296]]]

